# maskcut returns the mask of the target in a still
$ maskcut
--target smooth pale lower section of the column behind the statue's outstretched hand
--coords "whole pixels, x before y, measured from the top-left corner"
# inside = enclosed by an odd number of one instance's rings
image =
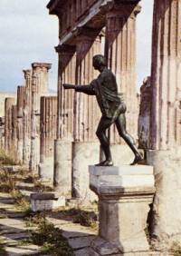
[[[54,141],[54,189],[63,196],[71,197],[71,142]]]

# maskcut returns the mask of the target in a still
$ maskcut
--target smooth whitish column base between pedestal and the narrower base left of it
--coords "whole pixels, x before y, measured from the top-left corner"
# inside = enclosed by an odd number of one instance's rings
[[[88,165],[100,160],[99,143],[72,143],[72,196],[93,202],[97,196],[90,191]]]

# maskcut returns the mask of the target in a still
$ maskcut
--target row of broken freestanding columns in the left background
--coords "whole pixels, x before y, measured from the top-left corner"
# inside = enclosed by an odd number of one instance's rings
[[[25,83],[17,87],[17,100],[5,99],[5,152],[13,153],[33,174],[46,157],[53,159],[57,97],[48,94],[50,68],[51,64],[33,63],[32,69],[24,70]]]

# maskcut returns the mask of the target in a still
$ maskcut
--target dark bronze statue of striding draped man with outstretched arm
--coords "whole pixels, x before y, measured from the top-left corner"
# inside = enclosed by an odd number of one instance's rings
[[[103,55],[95,55],[93,57],[93,67],[100,71],[97,79],[93,80],[89,85],[72,85],[63,84],[64,89],[75,89],[76,92],[84,94],[96,95],[102,116],[96,135],[100,140],[101,148],[105,154],[106,160],[96,164],[97,166],[112,166],[112,157],[110,153],[110,142],[106,136],[106,130],[110,128],[112,123],[116,127],[124,141],[129,145],[135,154],[135,159],[131,163],[134,165],[142,160],[142,156],[138,153],[138,148],[134,139],[126,131],[125,113],[126,104],[123,101],[123,94],[118,93],[118,85],[115,75],[107,68],[106,60]]]

